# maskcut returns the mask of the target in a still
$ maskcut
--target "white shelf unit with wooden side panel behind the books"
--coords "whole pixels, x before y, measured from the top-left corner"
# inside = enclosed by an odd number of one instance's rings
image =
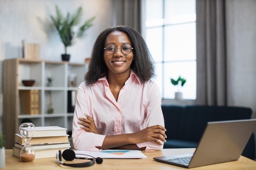
[[[35,126],[61,126],[72,130],[74,113],[67,112],[68,91],[76,91],[83,82],[86,64],[55,62],[45,60],[28,60],[23,58],[3,61],[3,133],[6,137],[6,148],[12,149],[14,134],[18,133],[21,122],[31,120]],[[76,75],[74,86],[69,86],[69,77]],[[47,86],[47,77],[54,81]],[[23,79],[35,79],[33,86],[24,86]],[[74,82],[73,82],[74,83]],[[39,114],[21,113],[21,91],[39,91]],[[47,113],[51,94],[54,112]],[[70,101],[70,100],[69,100]]]

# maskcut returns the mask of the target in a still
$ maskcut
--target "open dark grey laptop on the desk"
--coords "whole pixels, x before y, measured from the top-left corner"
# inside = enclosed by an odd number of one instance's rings
[[[255,127],[256,119],[208,122],[195,152],[153,159],[185,168],[236,161]]]

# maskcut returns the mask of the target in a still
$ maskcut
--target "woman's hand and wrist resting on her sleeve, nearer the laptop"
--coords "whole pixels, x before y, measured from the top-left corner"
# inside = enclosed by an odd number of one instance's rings
[[[153,141],[159,145],[162,145],[162,142],[166,142],[165,135],[166,129],[163,126],[155,125],[147,127],[139,132],[135,132],[131,134],[132,140],[134,140],[133,144],[139,144],[145,141]],[[159,141],[160,140],[160,141]]]

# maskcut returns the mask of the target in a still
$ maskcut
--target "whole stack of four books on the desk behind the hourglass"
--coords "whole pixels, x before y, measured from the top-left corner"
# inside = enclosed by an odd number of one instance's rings
[[[34,135],[29,141],[29,144],[35,150],[35,159],[56,157],[58,150],[63,152],[66,149],[70,149],[69,135],[67,135],[66,131],[66,128],[59,126],[35,127]],[[29,130],[28,133],[30,133]],[[15,134],[15,143],[12,150],[13,156],[20,157],[20,151],[25,144],[26,142],[22,135],[19,133]]]

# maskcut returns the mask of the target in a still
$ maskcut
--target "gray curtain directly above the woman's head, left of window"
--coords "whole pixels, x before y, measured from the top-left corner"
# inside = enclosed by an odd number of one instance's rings
[[[141,33],[141,0],[113,0],[114,26],[126,25]]]

